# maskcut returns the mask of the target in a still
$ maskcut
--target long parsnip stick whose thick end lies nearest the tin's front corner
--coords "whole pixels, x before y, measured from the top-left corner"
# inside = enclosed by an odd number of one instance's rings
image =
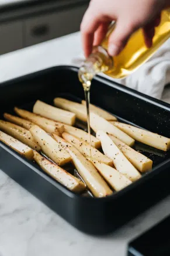
[[[88,161],[74,146],[66,142],[63,138],[60,138],[56,134],[53,134],[55,140],[60,143],[68,153],[70,153],[72,162],[75,168],[78,170],[79,175],[88,186],[89,190],[96,197],[105,197],[112,194],[112,190],[107,186],[105,180],[99,175],[93,164]]]

